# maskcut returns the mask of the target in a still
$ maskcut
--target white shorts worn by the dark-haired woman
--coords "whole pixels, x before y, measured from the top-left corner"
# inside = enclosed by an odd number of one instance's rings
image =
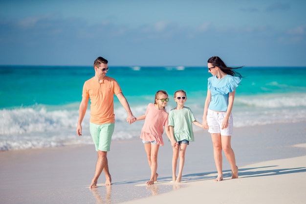
[[[207,124],[209,133],[220,133],[221,136],[232,136],[233,134],[233,116],[232,113],[228,119],[228,127],[221,129],[222,121],[226,115],[226,112],[214,112],[208,109],[207,112]]]

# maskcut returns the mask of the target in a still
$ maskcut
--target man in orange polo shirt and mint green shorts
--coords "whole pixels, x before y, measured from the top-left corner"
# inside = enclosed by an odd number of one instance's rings
[[[90,98],[90,124],[89,130],[92,140],[98,152],[98,159],[95,174],[91,181],[90,188],[96,188],[102,170],[106,177],[106,185],[111,185],[107,152],[109,151],[111,136],[114,131],[114,95],[117,96],[121,105],[128,113],[127,122],[133,123],[136,118],[131,113],[129,103],[122,93],[122,90],[113,78],[106,76],[109,70],[108,61],[103,57],[98,57],[93,64],[95,75],[87,80],[83,86],[82,101],[79,108],[79,120],[76,132],[82,136],[82,126],[84,115],[87,110]]]

